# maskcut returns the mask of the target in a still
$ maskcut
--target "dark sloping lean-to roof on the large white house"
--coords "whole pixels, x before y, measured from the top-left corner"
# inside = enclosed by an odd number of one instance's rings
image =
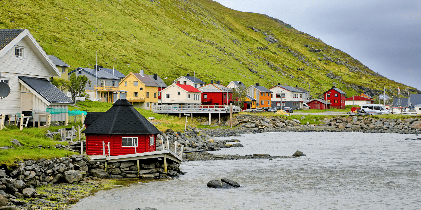
[[[75,103],[47,79],[30,76],[19,76],[19,79],[51,103]]]

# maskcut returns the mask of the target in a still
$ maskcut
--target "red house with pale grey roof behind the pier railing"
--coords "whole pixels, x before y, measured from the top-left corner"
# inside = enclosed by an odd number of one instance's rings
[[[219,83],[219,81],[218,81]],[[232,103],[232,89],[220,84],[210,84],[198,88],[202,91],[202,104],[203,105],[229,105]]]

